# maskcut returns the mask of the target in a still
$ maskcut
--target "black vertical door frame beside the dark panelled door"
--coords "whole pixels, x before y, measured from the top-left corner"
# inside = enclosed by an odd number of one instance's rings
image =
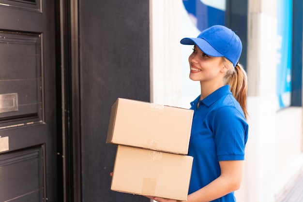
[[[81,202],[78,0],[56,0],[59,197]]]

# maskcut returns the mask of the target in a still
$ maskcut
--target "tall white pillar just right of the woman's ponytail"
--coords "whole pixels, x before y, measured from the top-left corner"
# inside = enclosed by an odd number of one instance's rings
[[[248,113],[246,147],[247,202],[274,201],[276,134],[276,30],[275,2],[249,0],[248,4]]]

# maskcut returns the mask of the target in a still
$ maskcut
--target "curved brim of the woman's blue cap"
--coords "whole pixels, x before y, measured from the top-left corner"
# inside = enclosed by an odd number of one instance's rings
[[[222,57],[223,55],[212,47],[207,41],[201,38],[184,38],[180,41],[184,45],[197,45],[203,53],[212,57]]]

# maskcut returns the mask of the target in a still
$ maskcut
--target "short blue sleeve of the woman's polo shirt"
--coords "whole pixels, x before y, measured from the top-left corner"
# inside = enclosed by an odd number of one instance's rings
[[[233,106],[222,107],[212,124],[218,161],[244,160],[248,125],[242,113]]]

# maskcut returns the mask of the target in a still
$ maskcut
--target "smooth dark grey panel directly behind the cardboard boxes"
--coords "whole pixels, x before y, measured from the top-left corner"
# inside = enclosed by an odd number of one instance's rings
[[[106,144],[118,97],[150,101],[149,0],[78,2],[82,201],[149,202],[110,190],[117,146]]]

